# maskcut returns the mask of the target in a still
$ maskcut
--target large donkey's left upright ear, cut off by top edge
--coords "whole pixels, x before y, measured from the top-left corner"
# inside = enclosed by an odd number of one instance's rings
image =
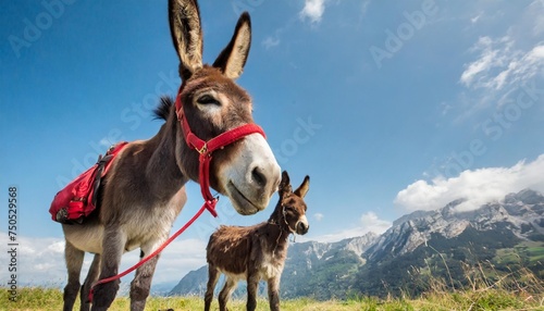
[[[202,67],[202,28],[196,0],[169,1],[170,33],[180,57],[180,76],[187,79]]]

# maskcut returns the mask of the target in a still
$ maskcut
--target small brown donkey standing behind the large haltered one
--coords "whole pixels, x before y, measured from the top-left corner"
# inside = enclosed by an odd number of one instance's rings
[[[304,197],[310,187],[310,177],[293,192],[289,175],[283,172],[280,201],[268,222],[249,227],[221,226],[208,242],[208,288],[205,310],[210,310],[213,289],[221,273],[226,281],[219,294],[219,309],[226,310],[226,302],[238,281],[247,281],[247,310],[257,307],[257,285],[268,282],[270,310],[280,310],[280,278],[287,257],[287,238],[290,234],[304,235],[309,229]]]

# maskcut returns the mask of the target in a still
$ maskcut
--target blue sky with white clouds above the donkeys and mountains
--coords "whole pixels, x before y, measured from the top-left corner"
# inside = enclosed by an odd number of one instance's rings
[[[381,233],[459,197],[473,209],[544,190],[543,1],[200,2],[207,62],[251,15],[238,83],[293,183],[311,176],[302,240]],[[0,16],[0,201],[17,186],[21,261],[41,282],[64,273],[54,194],[112,142],[157,133],[151,111],[180,85],[177,57],[166,1],[16,1]],[[201,204],[196,184],[188,195],[175,228]],[[223,198],[220,219],[205,214],[164,252],[157,282],[202,265],[217,224],[270,212],[243,217]]]

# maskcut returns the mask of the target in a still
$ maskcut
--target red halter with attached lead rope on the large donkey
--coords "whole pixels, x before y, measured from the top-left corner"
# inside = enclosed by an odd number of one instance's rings
[[[249,123],[249,124],[245,124],[245,125],[235,127],[235,128],[227,130],[225,133],[222,133],[208,141],[205,141],[205,140],[198,138],[190,130],[189,124],[187,123],[187,119],[184,115],[183,104],[182,104],[182,99],[181,99],[182,89],[183,89],[183,85],[180,87],[180,91],[177,92],[177,97],[175,100],[177,120],[180,121],[180,123],[182,125],[183,134],[185,136],[185,141],[187,142],[187,145],[190,148],[197,150],[198,153],[200,153],[200,156],[198,158],[198,162],[199,162],[198,181],[200,184],[200,191],[202,194],[202,198],[205,199],[205,203],[202,204],[200,210],[198,210],[198,212],[183,227],[181,227],[177,232],[175,232],[168,240],[165,240],[152,253],[148,254],[146,258],[141,259],[138,263],[136,263],[135,265],[131,266],[129,269],[121,272],[120,274],[99,279],[95,284],[92,284],[92,287],[90,288],[89,296],[88,296],[89,302],[92,302],[92,296],[94,296],[95,287],[97,285],[119,279],[119,278],[127,275],[128,273],[133,272],[134,270],[138,269],[140,265],[146,263],[151,258],[159,254],[169,244],[171,244],[187,227],[189,227],[202,214],[205,209],[208,210],[214,217],[218,216],[218,212],[215,211],[215,204],[218,203],[219,197],[213,197],[210,192],[210,162],[212,159],[213,151],[221,149],[225,146],[228,146],[228,145],[244,138],[247,135],[258,133],[258,134],[262,135],[263,137],[265,137],[264,132],[262,130],[262,128],[259,125],[257,125],[255,123]]]

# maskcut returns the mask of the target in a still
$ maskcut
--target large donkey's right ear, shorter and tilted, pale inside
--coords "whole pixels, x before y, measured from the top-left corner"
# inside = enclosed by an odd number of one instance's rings
[[[251,46],[251,20],[247,12],[242,13],[236,24],[231,42],[219,54],[213,66],[232,79],[242,75]]]

